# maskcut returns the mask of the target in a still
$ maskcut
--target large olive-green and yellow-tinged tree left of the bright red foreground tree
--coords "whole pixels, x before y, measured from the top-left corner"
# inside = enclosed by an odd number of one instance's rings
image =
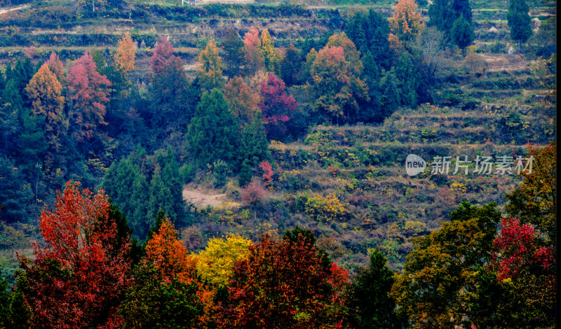
[[[450,223],[413,240],[391,295],[400,314],[414,325],[442,327],[453,323],[492,325],[500,294],[498,282],[483,268],[492,260],[496,225],[501,213],[496,204],[482,207],[464,202],[450,214]]]

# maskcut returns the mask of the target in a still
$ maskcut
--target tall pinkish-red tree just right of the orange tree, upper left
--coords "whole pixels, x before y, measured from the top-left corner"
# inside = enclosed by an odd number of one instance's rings
[[[74,137],[79,141],[90,139],[97,125],[107,125],[104,121],[105,105],[111,82],[95,67],[93,58],[86,51],[76,60],[68,73],[68,85],[74,99],[71,125],[75,125]]]

